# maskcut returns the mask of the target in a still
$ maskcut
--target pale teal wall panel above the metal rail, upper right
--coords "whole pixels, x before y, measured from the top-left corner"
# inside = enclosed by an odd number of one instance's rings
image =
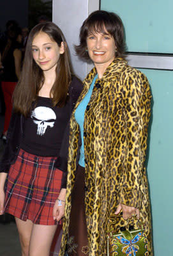
[[[102,10],[116,12],[126,28],[128,51],[173,51],[172,0],[102,0]]]

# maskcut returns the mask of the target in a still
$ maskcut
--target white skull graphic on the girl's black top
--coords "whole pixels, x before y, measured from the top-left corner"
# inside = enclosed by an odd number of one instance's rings
[[[37,134],[43,136],[47,127],[54,127],[56,120],[56,114],[51,108],[38,107],[35,108],[31,113],[34,124],[37,124]]]

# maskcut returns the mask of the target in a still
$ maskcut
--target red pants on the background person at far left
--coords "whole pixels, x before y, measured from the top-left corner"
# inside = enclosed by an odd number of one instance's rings
[[[1,82],[3,94],[4,94],[4,102],[6,106],[5,110],[5,120],[4,120],[4,132],[8,130],[8,126],[10,124],[11,111],[12,111],[12,95],[15,90],[17,82]]]

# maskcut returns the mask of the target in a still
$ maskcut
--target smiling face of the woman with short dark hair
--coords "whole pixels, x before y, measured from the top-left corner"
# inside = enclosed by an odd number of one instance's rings
[[[103,65],[107,68],[115,58],[114,38],[106,30],[104,34],[90,33],[87,36],[87,51],[96,67]]]

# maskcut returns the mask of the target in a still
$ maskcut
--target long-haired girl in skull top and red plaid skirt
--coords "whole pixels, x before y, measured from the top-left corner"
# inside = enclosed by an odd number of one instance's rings
[[[71,76],[61,29],[52,22],[35,26],[13,95],[0,166],[0,214],[15,216],[22,256],[49,255],[57,228],[53,207],[61,212],[64,204],[62,171],[67,163],[59,157],[61,143],[68,137],[71,111],[81,90],[82,83]]]

